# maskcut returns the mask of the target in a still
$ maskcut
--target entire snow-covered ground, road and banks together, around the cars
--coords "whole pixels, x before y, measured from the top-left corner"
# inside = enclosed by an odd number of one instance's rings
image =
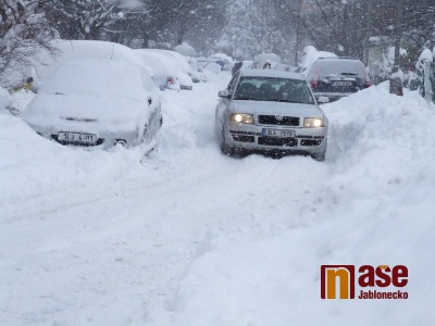
[[[61,147],[0,114],[0,325],[432,325],[435,108],[324,105],[325,163],[221,155],[217,90],[162,93],[159,153]],[[322,300],[324,264],[406,265],[408,300]]]

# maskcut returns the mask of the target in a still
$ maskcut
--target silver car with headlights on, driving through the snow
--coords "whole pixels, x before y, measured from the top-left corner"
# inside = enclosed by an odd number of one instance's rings
[[[278,151],[325,160],[327,118],[302,75],[245,70],[219,96],[214,127],[222,153]]]

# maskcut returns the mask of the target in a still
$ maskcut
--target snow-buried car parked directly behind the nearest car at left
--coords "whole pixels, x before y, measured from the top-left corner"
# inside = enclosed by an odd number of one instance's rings
[[[192,89],[191,70],[182,54],[158,49],[140,49],[136,53],[152,68],[154,82],[161,89]]]

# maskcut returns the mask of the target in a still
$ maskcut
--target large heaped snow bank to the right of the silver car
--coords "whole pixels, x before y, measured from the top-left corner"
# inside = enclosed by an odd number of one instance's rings
[[[295,216],[304,227],[262,239],[210,236],[170,299],[174,325],[432,324],[434,112],[375,87],[324,111],[331,176]],[[321,300],[324,264],[406,265],[409,299]]]

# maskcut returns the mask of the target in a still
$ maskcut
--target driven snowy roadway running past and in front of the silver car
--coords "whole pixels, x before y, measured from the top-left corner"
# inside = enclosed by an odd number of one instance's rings
[[[327,164],[221,155],[214,106],[227,79],[163,95],[162,147],[141,170],[2,208],[0,324],[170,325],[176,283],[214,234],[310,224],[300,212]]]

